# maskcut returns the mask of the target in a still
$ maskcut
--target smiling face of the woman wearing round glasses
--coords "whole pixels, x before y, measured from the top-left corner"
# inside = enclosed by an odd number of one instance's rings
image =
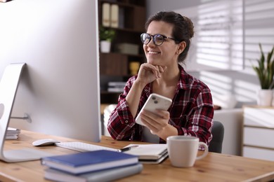
[[[152,21],[148,26],[148,31],[146,33],[150,35],[162,34],[163,36],[171,37],[173,25],[162,22],[162,21]],[[176,45],[175,41],[170,38],[164,38],[164,43],[162,45],[155,45],[152,40],[145,45],[143,44],[143,50],[145,52],[145,57],[147,61],[153,65],[168,66],[169,64],[177,64],[179,45]]]

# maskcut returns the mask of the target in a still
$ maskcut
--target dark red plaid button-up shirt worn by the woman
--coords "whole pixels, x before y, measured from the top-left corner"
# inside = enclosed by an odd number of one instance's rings
[[[182,66],[179,65],[179,69],[181,78],[178,80],[176,93],[169,107],[169,124],[176,127],[179,135],[198,137],[200,141],[208,145],[212,138],[214,115],[211,92],[207,85],[186,73]],[[124,93],[119,95],[118,104],[110,115],[107,130],[113,139],[142,141],[143,126],[135,123],[135,118],[126,102],[126,94],[129,93],[136,78],[137,76],[129,78],[124,87]],[[136,116],[151,93],[152,83],[149,83],[141,94]],[[166,143],[166,141],[159,139],[159,143]]]

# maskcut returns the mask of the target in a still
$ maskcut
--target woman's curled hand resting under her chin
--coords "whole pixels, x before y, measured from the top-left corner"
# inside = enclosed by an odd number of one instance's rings
[[[155,66],[149,63],[143,63],[138,71],[137,80],[146,85],[157,78],[160,78],[165,69],[167,69],[167,66]]]

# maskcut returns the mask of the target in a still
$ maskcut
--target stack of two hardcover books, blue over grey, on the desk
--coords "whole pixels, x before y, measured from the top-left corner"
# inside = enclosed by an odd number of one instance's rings
[[[105,150],[41,158],[41,164],[53,181],[114,181],[143,169],[138,156]]]

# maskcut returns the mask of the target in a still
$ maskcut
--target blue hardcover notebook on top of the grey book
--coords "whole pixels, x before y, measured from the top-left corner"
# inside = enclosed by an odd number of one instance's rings
[[[41,158],[41,164],[72,174],[94,172],[138,163],[138,156],[116,151],[90,151]]]

